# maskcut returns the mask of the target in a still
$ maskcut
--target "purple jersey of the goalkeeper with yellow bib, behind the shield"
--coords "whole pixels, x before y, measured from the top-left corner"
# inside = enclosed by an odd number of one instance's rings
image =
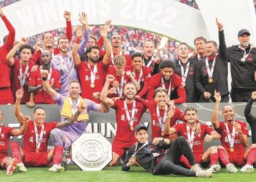
[[[64,100],[67,97],[65,97],[64,95],[61,94],[57,94],[55,97],[53,97],[53,100],[55,100],[55,102],[59,105],[60,111],[62,110],[62,106],[64,103]],[[94,101],[89,100],[89,99],[84,99],[86,102],[86,106],[87,106],[87,113],[89,114],[89,111],[99,111],[99,104],[98,103],[94,103]],[[64,121],[65,119],[61,117],[61,120]],[[82,135],[83,132],[86,131],[86,127],[87,127],[87,122],[86,121],[80,121],[80,122],[75,122],[74,124],[70,124],[66,127],[63,127],[62,130],[66,131],[66,132],[72,132],[74,134],[77,135]]]

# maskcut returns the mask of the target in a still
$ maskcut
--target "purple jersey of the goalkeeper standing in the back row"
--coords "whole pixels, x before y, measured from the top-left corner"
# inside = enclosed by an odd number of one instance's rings
[[[78,73],[75,69],[72,53],[69,52],[67,57],[62,57],[60,54],[53,56],[51,64],[61,74],[61,89],[59,93],[64,96],[69,95],[69,83],[72,80],[78,80]]]

